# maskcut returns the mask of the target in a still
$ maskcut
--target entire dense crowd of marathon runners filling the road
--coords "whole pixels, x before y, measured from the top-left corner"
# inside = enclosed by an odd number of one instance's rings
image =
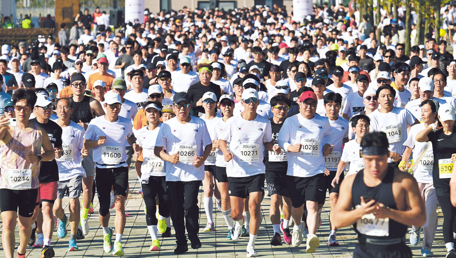
[[[330,247],[338,228],[354,225],[354,257],[412,257],[408,245],[431,257],[440,205],[455,258],[456,61],[438,34],[407,56],[401,20],[382,11],[378,42],[355,14],[323,4],[299,22],[277,6],[184,7],[146,10],[113,33],[86,10],[64,44],[50,34],[1,46],[5,257],[17,220],[16,257],[33,247],[50,258],[52,238],[79,250],[94,212],[104,252],[123,256],[132,164],[151,252],[171,227],[174,254],[188,251],[187,239],[200,248],[198,235],[217,226],[215,197],[226,222],[218,230],[248,238],[247,257],[258,256],[266,187],[272,246],[305,239],[303,252],[316,252],[328,195]]]

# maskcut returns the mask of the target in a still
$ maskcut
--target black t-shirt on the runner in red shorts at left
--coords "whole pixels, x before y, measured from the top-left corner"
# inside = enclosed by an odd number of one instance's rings
[[[41,126],[46,131],[54,148],[62,149],[62,128],[57,123],[49,120],[47,123],[42,124],[38,122],[36,118],[33,118],[30,121]],[[58,180],[59,168],[57,167],[57,162],[55,162],[55,160],[41,162],[39,168],[39,182],[49,183]]]

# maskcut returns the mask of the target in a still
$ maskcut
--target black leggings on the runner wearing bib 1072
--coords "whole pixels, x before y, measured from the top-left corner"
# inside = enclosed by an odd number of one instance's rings
[[[148,226],[156,225],[158,223],[155,217],[156,202],[155,196],[158,194],[158,213],[163,217],[169,217],[169,197],[166,191],[165,176],[149,176],[147,184],[142,183],[143,198],[146,204],[146,223]],[[167,225],[170,227],[170,225]]]

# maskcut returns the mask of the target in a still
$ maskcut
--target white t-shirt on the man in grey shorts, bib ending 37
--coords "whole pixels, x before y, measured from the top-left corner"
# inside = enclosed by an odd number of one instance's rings
[[[70,121],[68,126],[62,127],[63,153],[60,159],[55,159],[59,168],[59,181],[64,181],[82,175],[86,171],[82,168],[81,150],[84,148],[84,128]]]

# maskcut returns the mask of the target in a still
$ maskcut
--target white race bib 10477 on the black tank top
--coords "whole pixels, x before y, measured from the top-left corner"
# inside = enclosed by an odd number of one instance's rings
[[[361,206],[356,205],[358,207]],[[389,221],[389,218],[377,219],[372,213],[365,214],[356,222],[356,229],[367,236],[387,237],[390,235]]]

